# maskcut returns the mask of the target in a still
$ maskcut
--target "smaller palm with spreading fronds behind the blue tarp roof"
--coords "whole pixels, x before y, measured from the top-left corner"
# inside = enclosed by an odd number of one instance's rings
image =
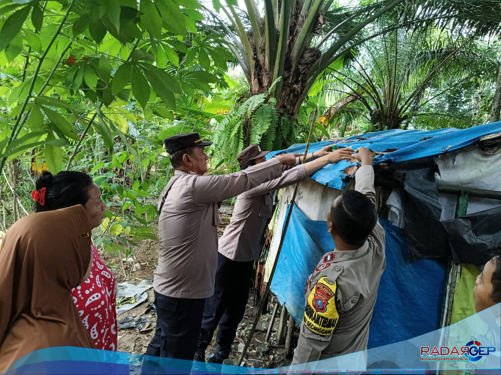
[[[483,123],[488,100],[481,104],[474,95],[495,82],[500,51],[495,43],[433,28],[399,30],[367,41],[347,65],[331,67],[319,78],[323,97],[327,92],[337,108],[330,115],[330,131]],[[350,95],[355,95],[355,102],[343,102]],[[348,129],[347,124],[354,126]]]

